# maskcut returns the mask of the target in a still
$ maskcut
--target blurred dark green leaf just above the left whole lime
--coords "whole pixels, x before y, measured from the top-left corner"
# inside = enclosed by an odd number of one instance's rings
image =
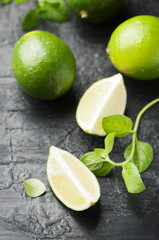
[[[37,10],[30,10],[22,20],[22,29],[27,30],[36,27],[38,25],[38,14]]]

